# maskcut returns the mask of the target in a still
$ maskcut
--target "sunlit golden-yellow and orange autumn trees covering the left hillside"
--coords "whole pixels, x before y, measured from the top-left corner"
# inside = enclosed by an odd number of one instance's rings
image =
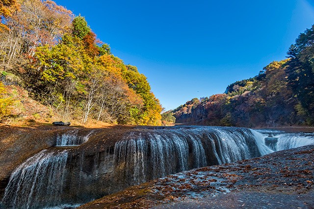
[[[51,0],[1,1],[0,12],[4,83],[23,86],[64,119],[161,123],[146,77],[111,54],[83,17]]]

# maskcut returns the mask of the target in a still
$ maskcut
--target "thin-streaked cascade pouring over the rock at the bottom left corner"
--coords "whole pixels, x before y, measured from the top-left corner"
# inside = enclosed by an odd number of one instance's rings
[[[42,150],[11,174],[2,202],[11,209],[56,206],[66,179],[67,151]]]

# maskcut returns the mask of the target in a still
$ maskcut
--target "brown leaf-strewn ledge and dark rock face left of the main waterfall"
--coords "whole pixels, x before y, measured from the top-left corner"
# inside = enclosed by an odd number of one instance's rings
[[[64,199],[72,198],[74,201],[84,203],[91,197],[101,197],[120,190],[123,185],[114,188],[111,183],[114,179],[114,176],[110,176],[113,147],[115,142],[122,139],[122,136],[130,132],[132,128],[131,126],[112,126],[102,129],[65,126],[1,126],[0,199],[4,195],[4,189],[9,183],[12,172],[23,162],[27,162],[27,159],[40,152],[45,152],[43,156],[51,154],[58,158],[58,154],[64,150],[67,154],[66,175],[68,176],[64,188],[67,190],[65,191],[67,195],[63,197]],[[89,136],[89,139],[80,146],[55,147],[57,140],[62,135],[66,136],[67,133],[74,133],[76,137]],[[45,162],[37,164],[42,163]],[[102,183],[102,186],[99,183]],[[78,185],[81,186],[77,187]],[[76,189],[73,189],[74,187]]]

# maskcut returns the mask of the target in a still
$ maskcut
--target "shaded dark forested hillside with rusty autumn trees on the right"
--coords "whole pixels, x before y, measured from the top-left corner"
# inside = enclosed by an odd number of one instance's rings
[[[314,125],[314,26],[301,33],[286,60],[225,93],[194,98],[172,111],[178,123],[217,126]]]

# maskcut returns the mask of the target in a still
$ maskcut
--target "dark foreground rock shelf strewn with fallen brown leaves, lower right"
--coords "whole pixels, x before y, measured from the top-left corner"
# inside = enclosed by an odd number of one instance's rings
[[[314,208],[314,145],[184,171],[87,203],[103,208]]]

